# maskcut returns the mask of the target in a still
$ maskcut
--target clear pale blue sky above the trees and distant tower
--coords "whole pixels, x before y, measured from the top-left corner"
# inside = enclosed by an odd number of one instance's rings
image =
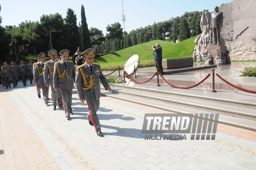
[[[67,9],[71,8],[77,17],[77,24],[81,22],[81,5],[85,7],[88,29],[96,27],[106,35],[106,26],[121,21],[125,14],[125,31],[163,22],[171,17],[182,16],[185,12],[214,10],[221,3],[232,0],[2,0],[0,16],[1,26],[19,26],[21,22],[40,21],[45,14],[59,13],[66,17]]]

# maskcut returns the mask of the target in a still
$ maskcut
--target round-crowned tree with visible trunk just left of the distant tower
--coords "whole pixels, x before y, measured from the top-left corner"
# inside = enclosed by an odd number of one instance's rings
[[[121,28],[121,24],[119,22],[115,22],[111,24],[111,26],[107,25],[107,33],[106,38],[114,40],[114,50],[116,51],[116,38],[121,39],[123,34],[123,28]]]

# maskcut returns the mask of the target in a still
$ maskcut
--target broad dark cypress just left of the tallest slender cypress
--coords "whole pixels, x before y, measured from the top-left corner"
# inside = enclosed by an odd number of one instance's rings
[[[64,18],[64,21],[64,34],[68,35],[64,41],[64,46],[71,52],[75,52],[76,49],[81,46],[81,41],[78,26],[76,24],[76,14],[74,14],[73,9],[67,9],[67,15],[66,18]]]

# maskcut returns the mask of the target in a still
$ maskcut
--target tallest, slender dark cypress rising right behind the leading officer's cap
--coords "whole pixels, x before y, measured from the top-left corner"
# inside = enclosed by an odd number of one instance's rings
[[[85,7],[81,6],[81,29],[80,29],[80,36],[81,36],[81,45],[83,49],[91,48],[91,38],[88,29],[88,25],[86,22],[85,17]]]

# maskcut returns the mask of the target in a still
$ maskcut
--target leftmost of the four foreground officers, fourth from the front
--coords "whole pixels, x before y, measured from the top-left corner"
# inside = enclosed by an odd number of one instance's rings
[[[38,57],[41,59],[41,62],[38,62],[34,65],[34,84],[37,85],[39,84],[40,87],[42,88],[43,91],[43,99],[45,102],[45,105],[48,105],[48,94],[47,94],[47,89],[45,86],[45,81],[43,79],[43,68],[45,67],[45,53],[42,52],[38,55]]]

